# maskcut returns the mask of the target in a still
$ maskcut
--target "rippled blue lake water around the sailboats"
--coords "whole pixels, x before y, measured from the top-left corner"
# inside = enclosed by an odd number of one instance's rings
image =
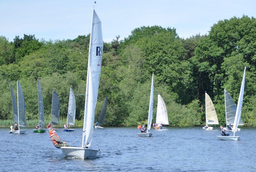
[[[138,137],[134,127],[94,129],[92,147],[99,146],[101,157],[87,160],[64,158],[49,133],[26,130],[15,135],[0,129],[0,171],[256,171],[255,128],[237,132],[239,141],[218,140],[219,128],[151,129],[153,137]],[[57,134],[70,143],[81,138],[82,129]]]

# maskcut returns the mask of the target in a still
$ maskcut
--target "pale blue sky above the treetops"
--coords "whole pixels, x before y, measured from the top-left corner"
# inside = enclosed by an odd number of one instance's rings
[[[175,27],[180,37],[206,34],[219,20],[255,17],[256,1],[241,0],[0,0],[0,35],[35,34],[45,40],[74,39],[90,32],[92,6],[102,21],[103,39],[121,39],[136,27]]]

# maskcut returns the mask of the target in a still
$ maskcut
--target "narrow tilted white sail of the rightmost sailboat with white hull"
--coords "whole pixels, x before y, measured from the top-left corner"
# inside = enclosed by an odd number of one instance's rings
[[[244,76],[243,76],[243,80],[242,80],[242,84],[241,84],[240,94],[239,94],[237,108],[236,108],[236,116],[235,116],[235,121],[234,121],[233,129],[232,129],[232,131],[234,132],[234,135],[235,135],[236,129],[239,125],[239,120],[241,117],[241,112],[242,112],[242,107],[243,107],[245,70],[246,70],[246,67],[244,67]]]

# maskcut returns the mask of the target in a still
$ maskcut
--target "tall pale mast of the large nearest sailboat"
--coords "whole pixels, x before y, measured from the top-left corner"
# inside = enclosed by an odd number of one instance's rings
[[[93,12],[94,12],[94,6],[92,8],[92,22],[93,22]],[[85,122],[87,121],[88,84],[89,84],[88,81],[89,81],[91,42],[92,42],[92,25],[91,25],[91,34],[90,34],[90,43],[89,43],[89,55],[88,55],[88,66],[87,66],[87,78],[86,78],[86,93],[85,93],[85,104],[84,104],[84,126],[83,126],[82,147],[84,147],[84,133],[85,133],[84,130],[85,130]]]

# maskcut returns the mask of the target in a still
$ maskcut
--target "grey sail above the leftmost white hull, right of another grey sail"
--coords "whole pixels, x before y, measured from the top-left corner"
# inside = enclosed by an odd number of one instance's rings
[[[27,126],[27,116],[26,116],[26,105],[24,96],[21,90],[20,82],[17,81],[17,97],[18,97],[18,119],[19,126]]]

